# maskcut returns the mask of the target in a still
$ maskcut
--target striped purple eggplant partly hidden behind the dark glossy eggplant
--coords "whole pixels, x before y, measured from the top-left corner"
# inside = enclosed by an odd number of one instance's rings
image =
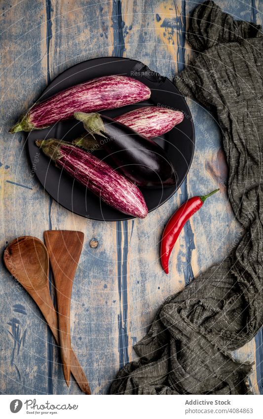
[[[160,108],[159,106],[145,106],[114,118],[115,121],[127,125],[149,139],[165,134],[175,125],[180,124],[183,119],[183,112]],[[82,134],[73,143],[86,150],[101,148],[92,135],[88,133]]]

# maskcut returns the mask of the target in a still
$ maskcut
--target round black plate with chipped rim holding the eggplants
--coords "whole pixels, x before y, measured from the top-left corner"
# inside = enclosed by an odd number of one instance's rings
[[[175,168],[177,185],[165,189],[141,189],[148,209],[152,211],[163,204],[180,187],[188,173],[194,152],[194,128],[189,108],[181,93],[168,78],[150,71],[147,66],[136,60],[113,57],[95,58],[77,64],[57,76],[45,89],[40,100],[46,99],[74,84],[113,74],[127,75],[142,81],[150,87],[151,97],[148,101],[105,111],[104,114],[115,117],[147,104],[170,107],[185,114],[184,121],[181,124],[162,137],[155,139],[156,143],[167,152]],[[75,214],[104,221],[132,218],[102,202],[92,192],[86,190],[65,172],[55,167],[53,162],[50,162],[49,158],[42,152],[40,152],[38,163],[34,163],[36,152],[39,152],[35,140],[53,137],[71,141],[82,132],[82,123],[76,124],[75,120],[67,120],[58,122],[50,128],[29,133],[29,156],[39,182],[52,198]],[[104,158],[104,156],[102,157]]]

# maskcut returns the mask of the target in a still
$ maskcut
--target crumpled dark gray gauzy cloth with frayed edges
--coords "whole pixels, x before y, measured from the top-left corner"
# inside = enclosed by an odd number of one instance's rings
[[[247,394],[248,363],[230,351],[263,325],[263,38],[213,2],[199,5],[188,41],[201,52],[179,90],[217,115],[228,195],[244,236],[224,261],[170,297],[119,371],[111,394]],[[211,226],[213,229],[213,226]]]

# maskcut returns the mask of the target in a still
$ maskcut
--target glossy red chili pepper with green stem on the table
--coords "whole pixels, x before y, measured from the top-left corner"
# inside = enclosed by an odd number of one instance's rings
[[[218,190],[219,189],[213,190],[213,192],[208,193],[208,195],[193,196],[188,199],[188,201],[178,208],[166,224],[161,240],[161,264],[166,273],[168,273],[170,254],[184,225],[189,218],[201,208],[206,198],[213,195],[213,193]]]

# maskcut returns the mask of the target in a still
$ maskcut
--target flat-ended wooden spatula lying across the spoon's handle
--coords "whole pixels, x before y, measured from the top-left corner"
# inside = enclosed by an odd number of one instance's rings
[[[49,230],[44,231],[44,240],[56,287],[63,373],[66,383],[69,385],[72,351],[70,337],[71,292],[84,234],[81,231]]]

